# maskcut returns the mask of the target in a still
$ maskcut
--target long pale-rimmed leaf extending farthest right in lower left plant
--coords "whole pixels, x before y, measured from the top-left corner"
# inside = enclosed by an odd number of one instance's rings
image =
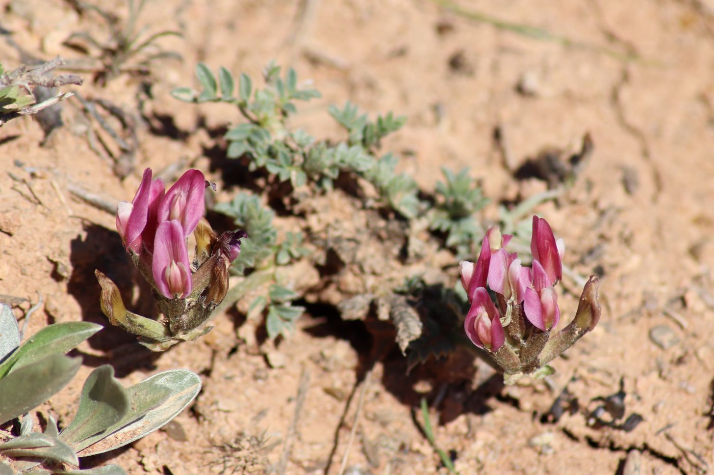
[[[198,391],[201,390],[201,378],[198,377],[198,374],[188,369],[171,369],[161,372],[129,388],[129,392],[134,395],[132,397],[132,405],[139,400],[137,397],[142,392],[145,392],[146,387],[156,386],[169,389],[170,395],[166,401],[149,410],[142,407],[134,407],[132,410],[136,411],[137,416],[134,421],[114,431],[101,441],[96,442],[96,444],[79,451],[79,456],[101,454],[117,449],[163,427],[164,424],[174,419],[193,401]],[[148,405],[149,407],[152,406],[152,404]]]

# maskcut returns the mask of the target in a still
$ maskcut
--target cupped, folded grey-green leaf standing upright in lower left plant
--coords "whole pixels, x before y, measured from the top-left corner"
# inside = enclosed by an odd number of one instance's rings
[[[84,382],[77,414],[60,438],[71,446],[106,431],[119,422],[130,409],[129,394],[114,378],[114,368],[104,364]]]

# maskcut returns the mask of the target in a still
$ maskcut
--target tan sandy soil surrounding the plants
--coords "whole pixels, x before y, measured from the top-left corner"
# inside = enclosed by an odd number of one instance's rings
[[[114,2],[98,4],[126,16]],[[710,470],[714,3],[461,4],[576,44],[499,30],[424,0],[149,2],[141,22],[152,31],[179,29],[182,38],[166,37],[161,45],[183,61],[157,63],[149,77],[123,74],[106,87],[83,73],[86,83],[76,88],[134,113],[139,145],[125,180],[92,150],[87,131],[96,124],[77,101],[65,104],[64,128],[46,141],[28,118],[0,130],[0,294],[31,303],[41,296],[31,332],[49,322],[105,322],[94,268],[127,260],[114,216],[76,200],[70,188],[127,199],[141,170],[177,160],[213,173],[220,185],[220,172],[208,171],[215,169],[209,152],[216,145],[208,131],[235,121],[236,113],[180,103],[169,91],[195,81],[197,61],[257,76],[276,58],[323,93],[296,118],[317,135],[340,133],[326,114],[331,103],[350,100],[366,111],[408,116],[385,145],[406,153],[404,170],[426,189],[441,166],[468,166],[493,203],[531,195],[545,184],[514,180],[513,170],[545,148],[571,149],[589,132],[595,148],[576,185],[538,213],[565,239],[570,267],[603,275],[596,330],[555,362],[558,372],[548,383],[503,387],[485,364],[458,354],[406,375],[403,358],[393,352],[356,389],[368,334],[360,323],[329,315],[305,315],[277,349],[241,343],[240,320],[227,316],[215,320],[207,337],[159,355],[107,328],[81,347],[85,366],[43,408],[60,422],[74,411],[72,394],[86,374],[104,362],[115,364],[126,384],[187,367],[201,374],[204,388],[170,429],[86,459],[86,466],[111,462],[130,474],[178,475],[219,472],[225,462],[237,473],[261,473],[280,459],[299,402],[286,473],[336,474],[346,452],[349,474],[446,473],[413,422],[426,395],[436,401],[438,444],[452,451],[461,474]],[[1,26],[33,56],[82,58],[62,45],[70,34],[106,35],[96,17],[80,16],[69,2],[5,5]],[[623,58],[628,52],[638,59]],[[0,51],[5,66],[20,61],[15,48]],[[228,196],[219,191],[217,199]],[[497,206],[485,213],[495,218]],[[129,271],[126,279],[131,282]],[[566,290],[561,308],[569,315],[579,291]],[[20,305],[18,315],[29,305]],[[266,351],[276,352],[276,367]],[[586,414],[599,404],[593,399],[617,393],[620,381],[625,418],[639,414],[643,421],[631,431],[589,424]],[[548,422],[563,389],[580,410]]]

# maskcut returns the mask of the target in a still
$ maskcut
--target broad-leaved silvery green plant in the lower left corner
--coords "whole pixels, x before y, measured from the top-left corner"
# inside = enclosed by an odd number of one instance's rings
[[[0,304],[0,424],[21,417],[59,392],[81,365],[80,358],[65,353],[99,330],[100,325],[89,322],[57,323],[20,344],[14,315],[7,305]],[[75,417],[61,433],[52,417],[41,434],[31,431],[31,418],[22,417],[20,435],[0,444],[0,456],[14,460],[15,468],[22,472],[123,474],[118,466],[76,469],[78,456],[101,454],[159,429],[176,417],[199,389],[201,379],[188,369],[162,372],[124,388],[114,378],[114,369],[105,364],[87,377]],[[0,474],[4,467],[0,466]]]

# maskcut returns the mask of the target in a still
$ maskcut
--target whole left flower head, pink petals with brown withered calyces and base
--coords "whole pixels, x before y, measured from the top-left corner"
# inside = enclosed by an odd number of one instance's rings
[[[201,328],[228,291],[228,266],[241,252],[243,231],[213,233],[203,213],[203,195],[210,184],[198,170],[188,170],[169,188],[144,170],[134,200],[119,203],[116,229],[126,252],[151,285],[164,315],[154,320],[126,310],[119,287],[96,270],[101,285],[101,310],[112,325],[139,336],[139,342],[162,351],[177,342],[206,334]],[[188,260],[188,237],[196,248]]]

